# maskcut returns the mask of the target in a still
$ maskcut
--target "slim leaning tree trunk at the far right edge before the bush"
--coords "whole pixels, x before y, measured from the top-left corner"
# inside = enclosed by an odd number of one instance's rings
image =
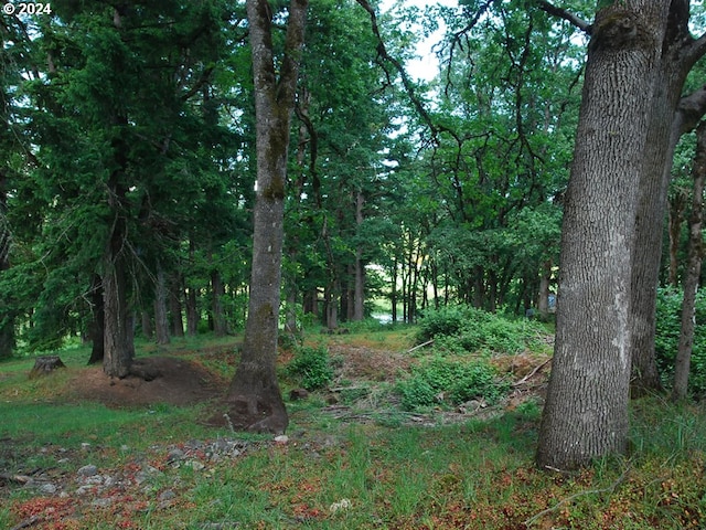
[[[704,256],[704,236],[702,221],[704,211],[704,182],[706,181],[706,123],[697,129],[696,156],[694,157],[694,194],[692,211],[688,218],[688,261],[684,277],[684,299],[682,300],[682,331],[680,346],[674,363],[674,386],[672,400],[686,398],[688,372],[694,347],[694,328],[696,325],[696,292],[702,274]]]

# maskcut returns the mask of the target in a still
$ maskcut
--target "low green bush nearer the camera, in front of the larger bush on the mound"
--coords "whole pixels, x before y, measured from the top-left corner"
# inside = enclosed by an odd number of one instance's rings
[[[509,383],[500,380],[495,369],[488,363],[441,357],[414,367],[410,377],[397,384],[402,404],[409,411],[440,403],[459,405],[473,399],[491,404],[509,389]]]

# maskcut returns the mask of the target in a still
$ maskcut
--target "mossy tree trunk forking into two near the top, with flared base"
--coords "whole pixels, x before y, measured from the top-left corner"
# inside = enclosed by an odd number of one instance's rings
[[[276,373],[277,331],[289,128],[307,7],[308,0],[289,3],[278,76],[270,6],[267,0],[247,0],[255,78],[257,197],[248,317],[240,362],[228,390],[227,416],[233,427],[256,432],[282,433],[288,424]]]

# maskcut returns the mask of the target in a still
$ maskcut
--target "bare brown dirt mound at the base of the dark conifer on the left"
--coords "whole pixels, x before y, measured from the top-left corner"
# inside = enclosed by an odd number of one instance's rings
[[[136,359],[131,374],[109,378],[100,367],[82,370],[71,385],[78,399],[109,406],[156,403],[190,405],[221,398],[227,384],[185,359],[149,357]]]

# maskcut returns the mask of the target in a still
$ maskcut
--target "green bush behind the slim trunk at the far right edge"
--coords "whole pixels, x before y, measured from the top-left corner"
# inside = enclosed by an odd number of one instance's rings
[[[654,350],[657,368],[666,386],[674,378],[674,361],[682,327],[683,293],[673,288],[657,290],[656,332]],[[688,389],[693,394],[706,394],[706,295],[696,295],[696,328],[692,351]]]

